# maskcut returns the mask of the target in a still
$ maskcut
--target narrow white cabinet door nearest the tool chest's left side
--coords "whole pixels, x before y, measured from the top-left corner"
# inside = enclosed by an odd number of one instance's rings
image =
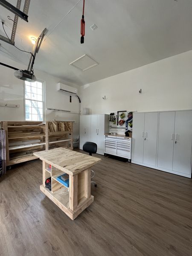
[[[97,116],[97,153],[104,154],[105,116]]]

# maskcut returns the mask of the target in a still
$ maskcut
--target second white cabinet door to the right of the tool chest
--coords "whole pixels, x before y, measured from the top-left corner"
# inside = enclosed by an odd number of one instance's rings
[[[145,113],[143,163],[156,166],[158,113]]]

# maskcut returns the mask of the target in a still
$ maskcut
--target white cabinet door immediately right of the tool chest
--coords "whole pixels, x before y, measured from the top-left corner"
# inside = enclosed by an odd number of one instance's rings
[[[132,161],[143,163],[145,113],[133,113]]]

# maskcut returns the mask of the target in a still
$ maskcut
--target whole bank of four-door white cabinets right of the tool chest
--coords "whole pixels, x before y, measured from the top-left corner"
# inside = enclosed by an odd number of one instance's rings
[[[132,163],[191,177],[192,111],[134,113]]]

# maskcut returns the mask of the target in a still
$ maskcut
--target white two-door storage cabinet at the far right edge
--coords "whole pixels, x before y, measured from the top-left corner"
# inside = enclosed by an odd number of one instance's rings
[[[191,177],[192,111],[160,112],[157,169]]]

